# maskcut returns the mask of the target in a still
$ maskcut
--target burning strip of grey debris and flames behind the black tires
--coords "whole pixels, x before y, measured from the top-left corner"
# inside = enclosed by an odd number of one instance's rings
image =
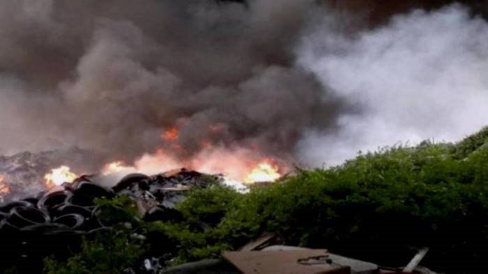
[[[93,152],[71,148],[49,152],[23,152],[0,156],[0,203],[20,200],[29,195],[74,182],[79,174],[93,174],[96,182],[112,187],[130,173],[154,174],[160,170],[174,170],[190,166],[208,174],[219,174],[225,184],[238,190],[257,182],[274,182],[288,172],[284,163],[274,159],[253,159],[246,154],[212,154],[194,161],[177,161],[171,154],[158,150],[133,164],[124,161],[103,163]],[[82,171],[80,171],[82,170]]]

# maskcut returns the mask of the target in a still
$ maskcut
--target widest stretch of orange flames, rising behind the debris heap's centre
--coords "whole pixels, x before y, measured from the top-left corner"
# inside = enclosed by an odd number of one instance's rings
[[[288,170],[287,165],[275,159],[265,158],[259,152],[259,145],[248,143],[245,147],[226,147],[218,140],[224,130],[223,124],[208,125],[207,138],[199,143],[200,150],[190,157],[184,156],[185,148],[178,143],[179,131],[171,127],[162,132],[160,138],[165,142],[164,149],[145,153],[127,166],[123,161],[107,163],[102,175],[125,175],[131,172],[156,174],[177,168],[188,168],[209,174],[220,174],[229,182],[252,184],[255,182],[274,182],[281,177],[280,172]]]

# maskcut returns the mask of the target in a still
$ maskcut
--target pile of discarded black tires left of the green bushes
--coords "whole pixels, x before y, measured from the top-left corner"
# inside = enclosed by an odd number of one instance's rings
[[[114,195],[112,189],[85,181],[4,204],[0,207],[0,269],[15,264],[22,272],[36,273],[44,257],[66,256],[76,250],[83,235],[101,227],[93,220],[94,200]]]

